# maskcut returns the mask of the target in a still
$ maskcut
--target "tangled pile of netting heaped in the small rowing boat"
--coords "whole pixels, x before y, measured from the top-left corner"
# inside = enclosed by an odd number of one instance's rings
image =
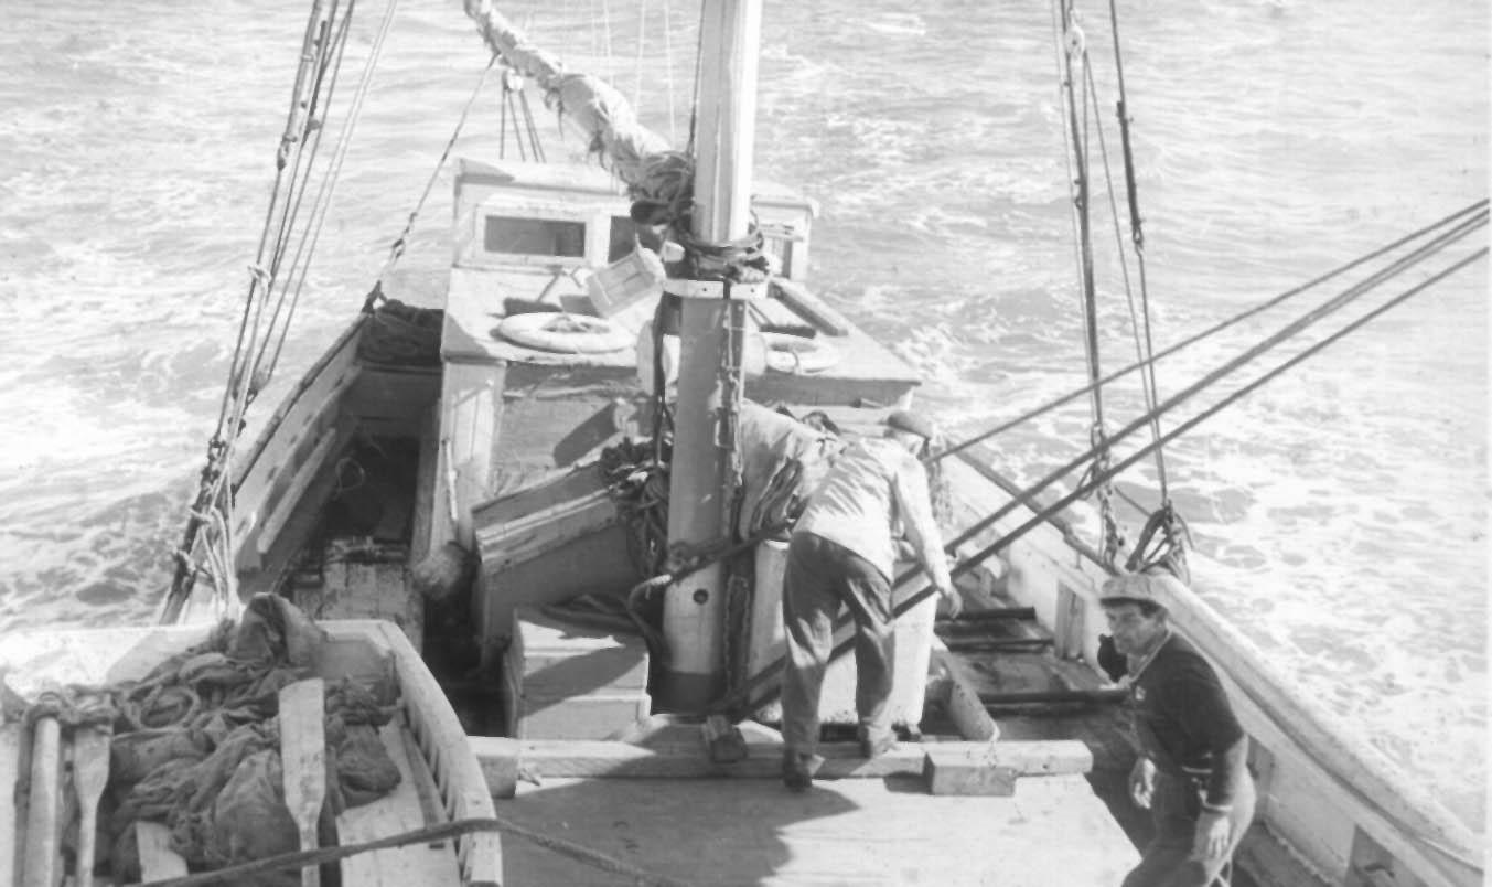
[[[191,871],[300,850],[285,806],[279,690],[312,676],[325,644],[325,633],[286,599],[261,594],[237,624],[219,626],[139,681],[43,693],[31,703],[28,723],[55,717],[113,729],[95,862],[121,884],[137,883],[136,826],[143,821],[170,829],[170,848]],[[327,682],[327,842],[337,814],[400,781],[377,733],[397,697],[392,672],[372,685]],[[272,872],[246,883],[292,886],[300,875]]]

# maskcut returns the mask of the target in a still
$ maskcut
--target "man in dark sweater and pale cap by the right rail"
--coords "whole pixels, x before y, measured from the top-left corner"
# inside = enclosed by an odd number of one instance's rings
[[[1129,796],[1155,821],[1155,839],[1123,887],[1226,883],[1220,875],[1253,818],[1249,738],[1212,665],[1167,624],[1168,582],[1180,585],[1170,575],[1128,573],[1100,594],[1140,739]]]

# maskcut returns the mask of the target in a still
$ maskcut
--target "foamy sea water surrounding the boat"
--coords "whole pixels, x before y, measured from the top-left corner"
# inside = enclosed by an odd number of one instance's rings
[[[1119,175],[1107,4],[1082,6]],[[1488,194],[1485,4],[1123,7],[1158,348]],[[3,9],[0,632],[142,623],[169,582],[216,421],[306,9]],[[506,10],[683,140],[695,6]],[[380,15],[360,9],[343,96]],[[458,3],[400,7],[260,409],[357,311],[485,61]],[[953,438],[1083,384],[1047,4],[768,0],[761,78],[758,175],[822,208],[812,284],[925,373],[922,403]],[[486,93],[458,154],[491,155],[497,109]],[[555,131],[548,112],[539,118]],[[583,146],[571,137],[558,151]],[[442,175],[395,294],[439,284],[449,190]],[[1101,349],[1119,366],[1134,345],[1104,194]],[[1201,594],[1477,829],[1486,297],[1479,263],[1207,420],[1165,461],[1198,544]],[[1301,311],[1162,363],[1162,397]],[[1112,430],[1126,424],[1143,409],[1138,390],[1115,385],[1104,409]],[[1089,423],[1079,400],[1004,435],[992,442],[1000,467],[1034,481],[1083,449]],[[1153,502],[1156,481],[1141,463],[1123,488]]]

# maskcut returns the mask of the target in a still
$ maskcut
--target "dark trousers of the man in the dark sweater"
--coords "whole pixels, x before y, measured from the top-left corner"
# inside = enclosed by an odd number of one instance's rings
[[[1203,863],[1191,859],[1200,809],[1198,788],[1189,778],[1164,772],[1155,775],[1155,794],[1150,797],[1155,839],[1144,848],[1140,865],[1123,880],[1123,887],[1213,887],[1253,821],[1253,779],[1244,775],[1232,799],[1228,814],[1232,835],[1228,853],[1219,860]]]

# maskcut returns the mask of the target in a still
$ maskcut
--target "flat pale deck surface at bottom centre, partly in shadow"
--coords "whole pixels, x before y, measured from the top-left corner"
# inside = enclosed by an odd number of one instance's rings
[[[689,884],[1118,884],[1138,854],[1082,775],[1024,778],[1012,797],[928,794],[916,776],[545,779],[497,815]],[[519,838],[513,884],[633,884]]]

